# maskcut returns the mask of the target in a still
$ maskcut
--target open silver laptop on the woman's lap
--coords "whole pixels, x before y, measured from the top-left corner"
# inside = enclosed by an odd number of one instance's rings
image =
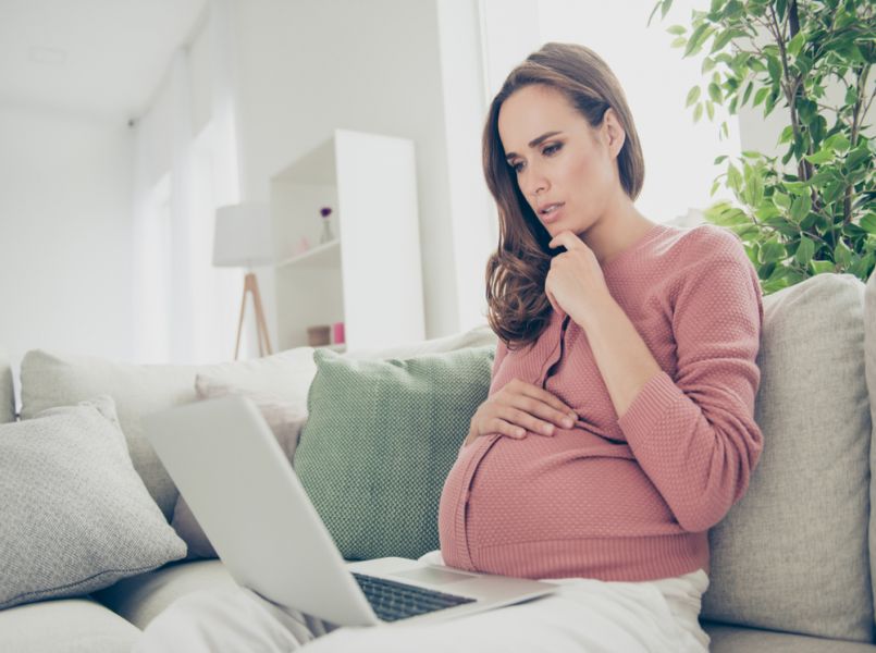
[[[337,626],[451,619],[558,586],[399,557],[347,563],[256,405],[239,396],[145,418],[145,432],[234,580]]]

